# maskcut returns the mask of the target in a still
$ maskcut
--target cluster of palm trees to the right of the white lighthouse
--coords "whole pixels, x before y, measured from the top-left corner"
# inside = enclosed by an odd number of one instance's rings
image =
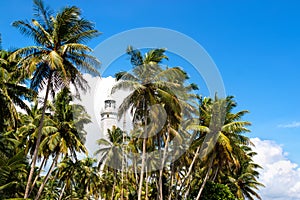
[[[244,134],[248,111],[233,112],[232,96],[197,95],[179,67],[163,67],[164,49],[128,47],[133,70],[116,74],[112,93],[131,93],[118,110],[132,130],[108,130],[98,144],[104,199],[260,199],[259,165]],[[163,111],[161,110],[163,109]],[[208,184],[208,187],[205,187]],[[213,195],[214,196],[213,196]]]

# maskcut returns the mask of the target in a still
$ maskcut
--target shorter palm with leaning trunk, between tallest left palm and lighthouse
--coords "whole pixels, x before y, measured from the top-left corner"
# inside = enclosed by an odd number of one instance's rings
[[[49,149],[54,158],[36,199],[39,199],[60,155],[68,156],[70,154],[70,157],[77,160],[77,152],[87,154],[84,146],[86,133],[83,126],[89,123],[90,119],[84,108],[77,104],[71,105],[71,100],[71,92],[66,87],[58,93],[54,100],[54,114],[51,122],[54,129],[42,140],[40,145],[41,149]]]

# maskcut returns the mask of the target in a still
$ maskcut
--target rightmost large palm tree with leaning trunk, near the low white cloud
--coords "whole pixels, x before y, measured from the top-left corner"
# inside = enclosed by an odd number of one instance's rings
[[[249,132],[246,127],[250,123],[240,120],[247,111],[233,113],[236,103],[232,96],[215,100],[205,98],[201,103],[200,124],[192,126],[200,131],[191,146],[196,152],[192,164],[195,164],[196,157],[200,157],[198,166],[202,166],[201,170],[205,169],[206,173],[196,199],[200,198],[209,179],[215,180],[219,174],[222,174],[221,171],[229,172],[239,168],[239,156],[243,152],[241,146],[250,144],[249,138],[242,135]],[[209,127],[209,131],[205,131],[204,127]],[[206,164],[203,165],[205,162]],[[190,169],[192,167],[191,165]],[[189,176],[190,173],[187,175]]]

